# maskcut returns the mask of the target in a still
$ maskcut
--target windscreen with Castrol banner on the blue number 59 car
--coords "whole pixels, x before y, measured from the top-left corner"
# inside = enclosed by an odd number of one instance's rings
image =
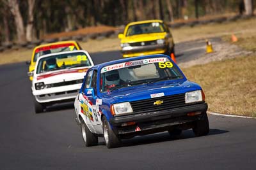
[[[133,60],[103,67],[100,92],[180,78],[182,73],[166,57]]]

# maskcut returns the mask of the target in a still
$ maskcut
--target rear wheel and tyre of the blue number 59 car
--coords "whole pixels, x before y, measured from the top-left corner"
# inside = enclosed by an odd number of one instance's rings
[[[85,146],[95,146],[98,145],[98,136],[93,134],[87,125],[84,123],[84,120],[81,120],[81,132],[84,140]]]

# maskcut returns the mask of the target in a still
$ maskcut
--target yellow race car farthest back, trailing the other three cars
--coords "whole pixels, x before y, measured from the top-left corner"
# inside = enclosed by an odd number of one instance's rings
[[[163,20],[143,20],[131,22],[118,34],[121,39],[123,57],[174,53],[174,42],[168,25]]]

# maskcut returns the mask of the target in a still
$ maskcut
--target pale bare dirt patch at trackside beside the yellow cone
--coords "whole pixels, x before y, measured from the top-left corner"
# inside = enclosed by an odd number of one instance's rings
[[[206,48],[206,45],[205,45]],[[206,64],[212,61],[232,59],[235,57],[244,57],[252,55],[253,52],[244,50],[236,45],[236,43],[227,43],[225,41],[212,42],[212,53],[204,53],[200,57],[194,60],[189,60],[188,62],[181,62],[180,67],[191,67],[198,64]]]

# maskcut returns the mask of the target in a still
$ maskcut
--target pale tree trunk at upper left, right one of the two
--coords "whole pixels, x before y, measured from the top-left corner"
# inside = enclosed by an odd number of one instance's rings
[[[34,7],[35,7],[35,0],[28,0],[28,22],[26,27],[27,41],[32,41],[33,39]]]

